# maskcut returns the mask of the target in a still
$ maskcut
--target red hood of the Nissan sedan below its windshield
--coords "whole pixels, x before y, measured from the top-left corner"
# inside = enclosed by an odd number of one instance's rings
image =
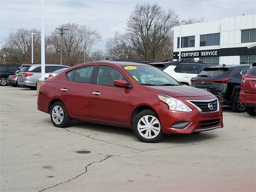
[[[187,85],[180,86],[146,86],[146,89],[156,93],[166,94],[172,97],[209,96],[210,92]]]

